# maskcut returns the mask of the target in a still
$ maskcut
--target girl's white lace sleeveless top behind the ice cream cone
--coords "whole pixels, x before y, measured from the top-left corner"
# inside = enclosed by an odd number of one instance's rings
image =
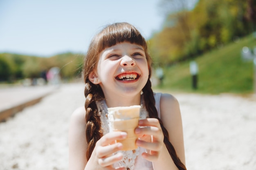
[[[154,93],[155,97],[155,107],[157,108],[158,117],[160,118],[160,97],[162,93]],[[100,110],[101,115],[101,128],[103,129],[103,135],[111,132],[110,122],[108,121],[108,106],[105,100],[97,101],[97,107]],[[146,119],[148,117],[148,112],[145,108],[143,95],[141,95],[141,110],[140,119]],[[136,150],[119,151],[124,154],[124,158],[118,163],[114,164],[114,168],[119,166],[126,167],[127,170],[153,170],[153,164],[147,161],[141,154],[146,152],[144,148],[138,147]]]

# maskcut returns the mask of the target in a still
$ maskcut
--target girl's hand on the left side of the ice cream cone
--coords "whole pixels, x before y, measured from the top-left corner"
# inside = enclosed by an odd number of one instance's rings
[[[91,158],[94,157],[94,161],[102,167],[100,169],[115,169],[113,168],[113,163],[120,161],[123,158],[122,153],[117,152],[122,149],[123,145],[121,143],[115,143],[115,140],[125,139],[126,137],[126,132],[109,132],[97,141]],[[115,154],[115,152],[117,153]],[[125,170],[125,168],[120,167],[115,170]]]

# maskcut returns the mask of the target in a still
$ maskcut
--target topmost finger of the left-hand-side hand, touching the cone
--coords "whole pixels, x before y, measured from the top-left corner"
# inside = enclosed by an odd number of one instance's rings
[[[122,139],[125,139],[126,137],[127,137],[126,132],[120,132],[120,131],[110,132],[104,135],[103,137],[101,137],[98,143],[100,146],[107,146],[109,144],[115,143],[115,140],[122,140]]]

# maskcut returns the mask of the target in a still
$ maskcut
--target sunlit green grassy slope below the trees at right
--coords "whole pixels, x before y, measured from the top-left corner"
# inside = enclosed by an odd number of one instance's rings
[[[213,50],[195,61],[198,64],[198,88],[193,90],[189,71],[190,61],[164,68],[164,81],[161,87],[166,90],[197,93],[253,93],[253,61],[245,62],[241,57],[243,46],[253,49],[256,39],[249,35],[238,42]]]

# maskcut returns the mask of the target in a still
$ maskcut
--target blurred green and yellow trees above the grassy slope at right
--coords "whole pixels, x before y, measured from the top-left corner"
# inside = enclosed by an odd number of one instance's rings
[[[250,10],[247,1],[252,4]],[[246,9],[252,11],[255,0],[247,1],[199,0],[189,9],[189,0],[162,0],[166,20],[162,31],[151,38],[150,52],[162,64],[171,64],[248,35],[252,31]],[[250,18],[253,20],[253,13]]]

